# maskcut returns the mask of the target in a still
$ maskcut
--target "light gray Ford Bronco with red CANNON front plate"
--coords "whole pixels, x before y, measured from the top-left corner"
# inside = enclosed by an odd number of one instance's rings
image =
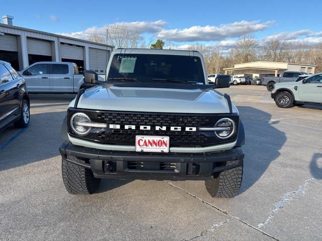
[[[193,56],[193,57],[191,57]],[[102,178],[205,180],[213,197],[234,197],[245,142],[229,75],[209,85],[193,51],[116,49],[107,83],[85,70],[90,86],[69,104],[60,146],[71,194],[92,194]]]

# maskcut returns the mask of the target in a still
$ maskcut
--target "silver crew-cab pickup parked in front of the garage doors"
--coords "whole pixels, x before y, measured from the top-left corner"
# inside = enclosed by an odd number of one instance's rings
[[[20,71],[30,93],[77,93],[83,75],[71,62],[36,62]]]

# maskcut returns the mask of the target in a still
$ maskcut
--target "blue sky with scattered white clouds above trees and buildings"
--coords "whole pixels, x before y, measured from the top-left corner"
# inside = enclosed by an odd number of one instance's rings
[[[149,42],[163,39],[176,46],[195,43],[233,48],[245,33],[261,40],[322,43],[322,25],[314,9],[322,1],[61,1],[50,8],[43,1],[15,1],[1,15],[14,16],[14,25],[86,39],[120,23]],[[32,4],[31,4],[32,3]],[[306,6],[305,6],[306,5]]]

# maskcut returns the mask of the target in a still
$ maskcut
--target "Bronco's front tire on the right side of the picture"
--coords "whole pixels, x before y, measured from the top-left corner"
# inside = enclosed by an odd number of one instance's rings
[[[226,165],[238,162],[228,161]],[[205,181],[206,189],[212,197],[234,197],[238,194],[243,179],[243,165],[215,173],[210,180]]]

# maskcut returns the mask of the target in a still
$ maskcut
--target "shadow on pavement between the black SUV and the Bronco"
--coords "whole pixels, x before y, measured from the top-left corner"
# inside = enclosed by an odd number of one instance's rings
[[[21,135],[17,135],[19,129],[8,127],[6,135],[0,136],[0,171],[57,157],[65,115],[66,111],[31,114],[29,127]]]

